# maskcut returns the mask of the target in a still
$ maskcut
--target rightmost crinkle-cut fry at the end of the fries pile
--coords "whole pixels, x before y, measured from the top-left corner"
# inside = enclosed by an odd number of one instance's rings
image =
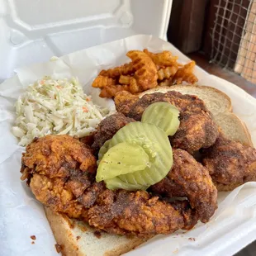
[[[193,73],[195,66],[196,62],[192,60],[192,62],[184,65],[183,68],[178,69],[173,77],[173,83],[181,84],[183,81],[192,84],[197,83],[198,78]]]

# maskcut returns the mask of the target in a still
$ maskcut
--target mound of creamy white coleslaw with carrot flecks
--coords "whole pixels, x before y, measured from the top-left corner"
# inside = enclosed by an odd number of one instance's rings
[[[17,100],[17,120],[12,133],[26,146],[35,137],[69,134],[83,137],[109,114],[83,93],[77,78],[45,77],[30,85]]]

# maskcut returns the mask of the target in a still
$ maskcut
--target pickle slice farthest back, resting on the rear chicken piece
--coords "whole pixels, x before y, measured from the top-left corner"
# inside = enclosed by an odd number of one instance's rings
[[[168,136],[176,133],[179,126],[179,111],[168,102],[156,102],[147,107],[142,115],[142,122],[158,126]]]

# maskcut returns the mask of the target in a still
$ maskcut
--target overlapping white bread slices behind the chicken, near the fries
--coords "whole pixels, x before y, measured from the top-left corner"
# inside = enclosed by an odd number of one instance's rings
[[[249,130],[239,117],[232,113],[230,97],[216,88],[199,85],[175,85],[171,87],[158,87],[140,93],[140,97],[148,93],[177,91],[183,94],[196,95],[211,111],[217,126],[230,140],[239,141],[243,145],[254,146]]]

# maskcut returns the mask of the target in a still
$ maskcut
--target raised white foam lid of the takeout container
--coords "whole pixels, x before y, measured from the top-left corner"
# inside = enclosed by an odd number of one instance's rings
[[[21,66],[111,40],[166,39],[172,0],[0,0],[0,82]]]

